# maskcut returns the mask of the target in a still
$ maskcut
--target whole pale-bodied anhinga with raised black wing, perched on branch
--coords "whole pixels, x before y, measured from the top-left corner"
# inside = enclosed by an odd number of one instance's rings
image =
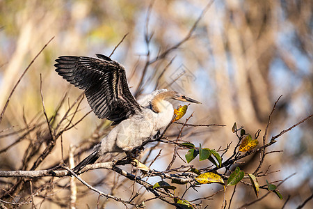
[[[116,125],[73,169],[78,172],[105,153],[133,150],[154,137],[172,120],[174,109],[169,99],[200,103],[176,91],[161,89],[136,101],[127,84],[125,68],[108,56],[99,59],[86,56],[60,56],[56,72],[63,79],[85,91],[91,109],[99,118]]]

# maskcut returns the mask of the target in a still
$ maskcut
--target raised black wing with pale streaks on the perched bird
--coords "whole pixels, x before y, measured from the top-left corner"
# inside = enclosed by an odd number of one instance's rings
[[[114,124],[141,111],[127,84],[125,69],[108,56],[60,56],[56,72],[63,79],[85,91],[91,109],[99,118]]]

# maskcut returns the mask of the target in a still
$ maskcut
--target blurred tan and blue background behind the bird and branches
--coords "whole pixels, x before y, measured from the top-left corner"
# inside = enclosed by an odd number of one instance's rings
[[[76,100],[81,93],[54,71],[54,60],[58,56],[95,56],[98,53],[109,56],[127,33],[127,37],[111,58],[127,69],[129,86],[134,95],[139,98],[154,88],[175,89],[202,102],[200,105],[189,106],[186,116],[193,111],[194,114],[188,123],[227,125],[186,128],[183,138],[197,146],[201,143],[202,146],[217,150],[220,147],[225,148],[231,141],[234,141],[233,145],[236,144],[238,139],[231,131],[234,122],[239,127],[244,126],[250,134],[261,129],[263,136],[268,115],[280,95],[282,98],[275,109],[268,132],[269,139],[312,114],[313,3],[310,0],[214,1],[198,22],[191,38],[166,54],[163,59],[151,63],[143,76],[147,58],[151,61],[158,54],[184,40],[208,3],[209,1],[188,0],[155,1],[147,21],[150,1],[0,0],[1,110],[24,69],[48,40],[54,37],[35,60],[10,100],[0,124],[0,150],[21,137],[22,132],[17,132],[18,130],[30,123],[45,121],[40,98],[40,74],[48,116],[54,115],[66,91],[69,93],[61,112],[65,112],[70,102]],[[152,36],[149,45],[145,41],[145,34]],[[77,120],[88,111],[90,107],[85,99]],[[88,141],[90,136],[93,137],[99,124],[102,121],[94,114],[89,114],[72,130],[65,132],[64,155],[67,156],[70,144],[79,146],[81,141]],[[262,171],[266,171],[269,165],[269,171],[280,171],[259,179],[260,185],[266,184],[266,179],[282,180],[292,173],[296,175],[279,187],[284,200],[280,201],[275,194],[270,194],[253,205],[253,208],[282,208],[288,198],[285,208],[295,208],[312,194],[312,127],[311,118],[282,135],[276,144],[268,148],[268,151],[284,152],[266,155]],[[168,134],[175,135],[177,130],[179,126],[172,125]],[[12,132],[15,134],[10,134]],[[37,139],[38,134],[40,133],[30,132],[15,146],[0,152],[0,169],[21,169],[26,148]],[[262,137],[259,137],[259,141],[262,141]],[[45,144],[41,146],[39,150],[44,150]],[[161,157],[152,168],[163,171],[172,157],[173,147],[160,144],[155,148],[152,159],[160,149]],[[184,153],[186,150],[182,151],[182,156]],[[231,154],[230,152],[229,155]],[[33,159],[30,162],[31,160]],[[61,143],[58,140],[51,155],[38,169],[47,169],[61,160]],[[258,160],[259,155],[251,157],[247,160],[248,164],[241,169],[246,172],[254,171]],[[178,159],[173,167],[181,164],[185,163]],[[199,168],[205,167],[203,162],[194,164]],[[108,173],[111,173],[110,177]],[[111,194],[124,199],[129,198],[132,191],[132,183],[125,181],[117,173],[90,171],[84,173],[82,178],[94,185],[102,182],[98,189],[112,192]],[[160,179],[151,178],[149,181],[153,184],[158,180]],[[1,179],[1,187],[8,189],[10,184],[6,185],[6,182],[10,181]],[[54,187],[47,189],[49,198],[40,195],[35,197],[35,204],[38,204],[36,206],[67,206],[70,194],[66,182],[68,179],[61,179]],[[122,185],[114,192],[113,182]],[[83,191],[79,193],[81,196],[78,196],[77,206],[97,207],[97,194],[80,183],[77,184],[79,192]],[[250,187],[240,185],[236,189],[238,192],[234,196],[232,208],[238,208],[255,199]],[[185,195],[188,200],[216,192],[212,185],[202,185],[198,193],[191,190]],[[144,189],[141,192],[144,193]],[[182,192],[177,195],[182,195]],[[227,192],[228,199],[231,193]],[[265,194],[265,191],[260,193]],[[214,196],[214,200],[204,201],[204,206],[209,204],[209,208],[217,208],[222,201],[223,195],[220,194]],[[107,208],[125,208],[121,203],[104,198],[100,199],[100,203],[105,203]],[[170,208],[161,201],[150,201],[147,206]],[[312,201],[305,206],[312,207]]]

